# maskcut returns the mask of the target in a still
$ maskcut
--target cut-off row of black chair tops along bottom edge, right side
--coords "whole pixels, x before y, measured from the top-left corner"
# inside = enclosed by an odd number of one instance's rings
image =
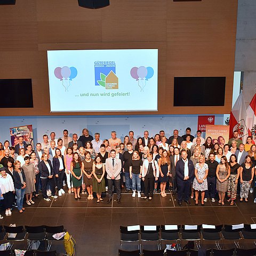
[[[136,251],[124,251],[118,250],[119,256],[197,256],[199,253],[197,250],[186,249],[181,251],[171,251],[171,250],[157,250],[157,251],[148,251],[140,250]],[[206,250],[206,256],[253,256],[256,254],[256,248],[253,249],[228,249],[228,250],[219,250],[219,249],[208,249]]]

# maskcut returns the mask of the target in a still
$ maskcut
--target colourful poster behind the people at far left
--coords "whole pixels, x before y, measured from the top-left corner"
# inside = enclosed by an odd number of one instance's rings
[[[23,137],[27,144],[31,144],[34,148],[34,136],[32,125],[24,125],[10,128],[11,145],[14,147],[19,143],[19,137]]]

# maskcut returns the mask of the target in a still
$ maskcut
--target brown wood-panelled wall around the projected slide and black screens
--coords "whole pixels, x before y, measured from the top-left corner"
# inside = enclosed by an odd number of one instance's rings
[[[50,114],[47,50],[147,48],[159,49],[156,114],[229,113],[236,13],[237,0],[110,0],[98,10],[79,7],[75,0],[0,6],[0,78],[31,77],[34,97],[34,108],[0,109],[2,115]],[[226,76],[225,106],[173,107],[174,76]]]

